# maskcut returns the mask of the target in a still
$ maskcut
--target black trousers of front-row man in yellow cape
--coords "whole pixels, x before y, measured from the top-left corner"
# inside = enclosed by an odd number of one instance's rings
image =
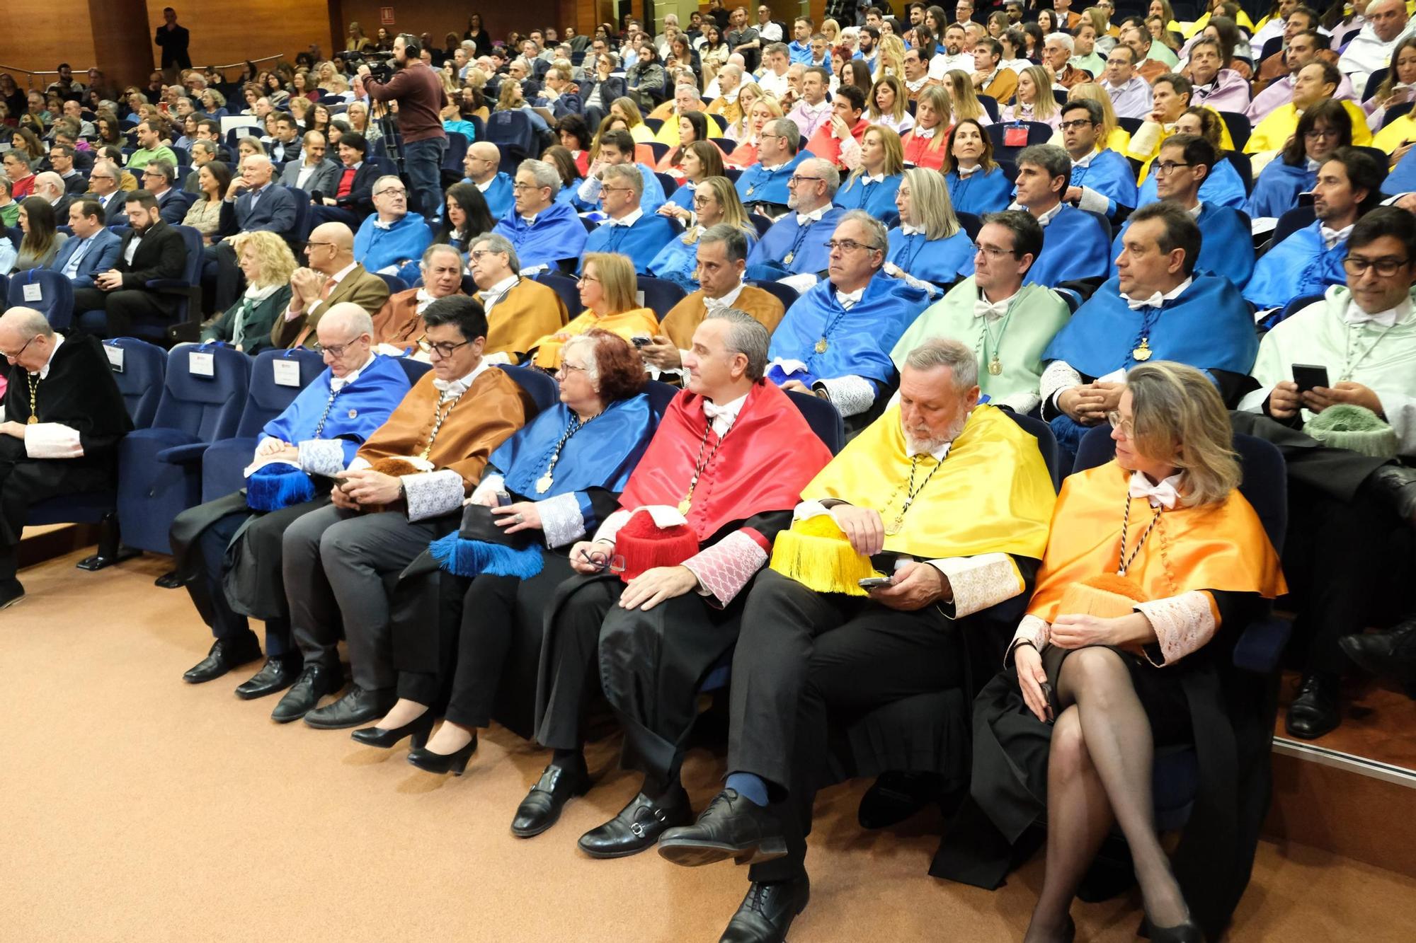
[[[759,573],[732,658],[728,769],[767,780],[787,855],[753,865],[749,879],[806,874],[806,835],[833,721],[959,687],[963,677],[957,626],[935,606],[898,612]]]

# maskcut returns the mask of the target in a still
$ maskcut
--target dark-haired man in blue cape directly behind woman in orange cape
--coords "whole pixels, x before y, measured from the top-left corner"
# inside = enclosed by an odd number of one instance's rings
[[[1201,234],[1188,212],[1172,202],[1141,207],[1123,245],[1116,278],[1102,283],[1042,354],[1042,418],[1069,457],[1116,409],[1126,371],[1136,364],[1188,364],[1232,402],[1259,348],[1239,290],[1197,270]]]

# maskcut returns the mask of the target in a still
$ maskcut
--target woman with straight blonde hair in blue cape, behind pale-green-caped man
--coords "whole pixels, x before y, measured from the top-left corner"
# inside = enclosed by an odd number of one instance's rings
[[[959,225],[943,174],[923,167],[906,170],[895,193],[895,210],[899,225],[888,234],[886,275],[952,285],[971,268],[974,245]]]

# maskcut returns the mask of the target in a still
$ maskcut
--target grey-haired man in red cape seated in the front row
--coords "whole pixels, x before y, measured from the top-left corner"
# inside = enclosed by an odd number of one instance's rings
[[[741,590],[831,460],[787,394],[762,379],[766,365],[767,330],[756,319],[709,312],[684,357],[688,388],[664,413],[620,510],[571,548],[585,576],[556,590],[537,684],[537,741],[555,753],[513,834],[541,834],[589,789],[582,728],[596,667],[626,729],[624,763],[644,773],[644,786],[581,848],[630,855],[692,820],[678,766],[698,688],[738,637]]]

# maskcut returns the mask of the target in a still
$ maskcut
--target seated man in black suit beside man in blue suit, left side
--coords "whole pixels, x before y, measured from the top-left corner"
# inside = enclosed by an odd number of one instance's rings
[[[123,337],[133,317],[169,319],[180,296],[163,296],[147,287],[154,279],[180,279],[187,269],[187,244],[163,222],[157,198],[146,190],[127,194],[127,224],[118,265],[93,276],[96,287],[74,292],[74,312],[106,312],[108,337]]]

